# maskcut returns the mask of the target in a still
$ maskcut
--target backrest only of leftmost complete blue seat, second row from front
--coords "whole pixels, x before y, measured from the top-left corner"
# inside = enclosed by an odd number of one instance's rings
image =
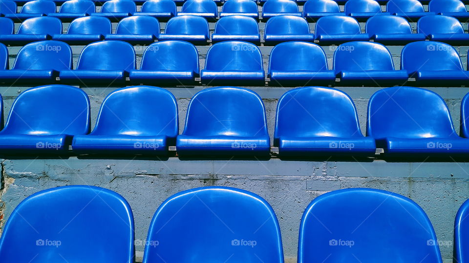
[[[18,95],[1,132],[31,135],[86,134],[90,127],[89,111],[88,96],[79,88],[67,85],[39,86]]]

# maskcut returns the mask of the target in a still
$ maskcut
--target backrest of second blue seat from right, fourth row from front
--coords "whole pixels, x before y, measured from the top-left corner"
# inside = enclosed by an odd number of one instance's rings
[[[366,21],[365,31],[370,36],[376,34],[412,34],[409,22],[398,16],[373,16]]]

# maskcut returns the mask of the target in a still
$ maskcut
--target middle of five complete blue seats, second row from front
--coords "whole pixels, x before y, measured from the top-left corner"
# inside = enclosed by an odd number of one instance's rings
[[[176,150],[180,156],[268,156],[270,137],[262,99],[237,87],[198,92],[189,103]]]

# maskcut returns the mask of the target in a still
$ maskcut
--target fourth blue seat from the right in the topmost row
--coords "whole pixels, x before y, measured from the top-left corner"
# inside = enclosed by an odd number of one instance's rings
[[[339,4],[334,0],[307,0],[303,6],[303,17],[316,21],[324,16],[343,15]]]

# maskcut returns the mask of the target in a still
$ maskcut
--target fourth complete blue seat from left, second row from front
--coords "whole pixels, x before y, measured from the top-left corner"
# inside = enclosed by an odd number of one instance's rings
[[[342,91],[304,87],[283,94],[277,105],[274,146],[280,157],[374,156],[352,99]]]

